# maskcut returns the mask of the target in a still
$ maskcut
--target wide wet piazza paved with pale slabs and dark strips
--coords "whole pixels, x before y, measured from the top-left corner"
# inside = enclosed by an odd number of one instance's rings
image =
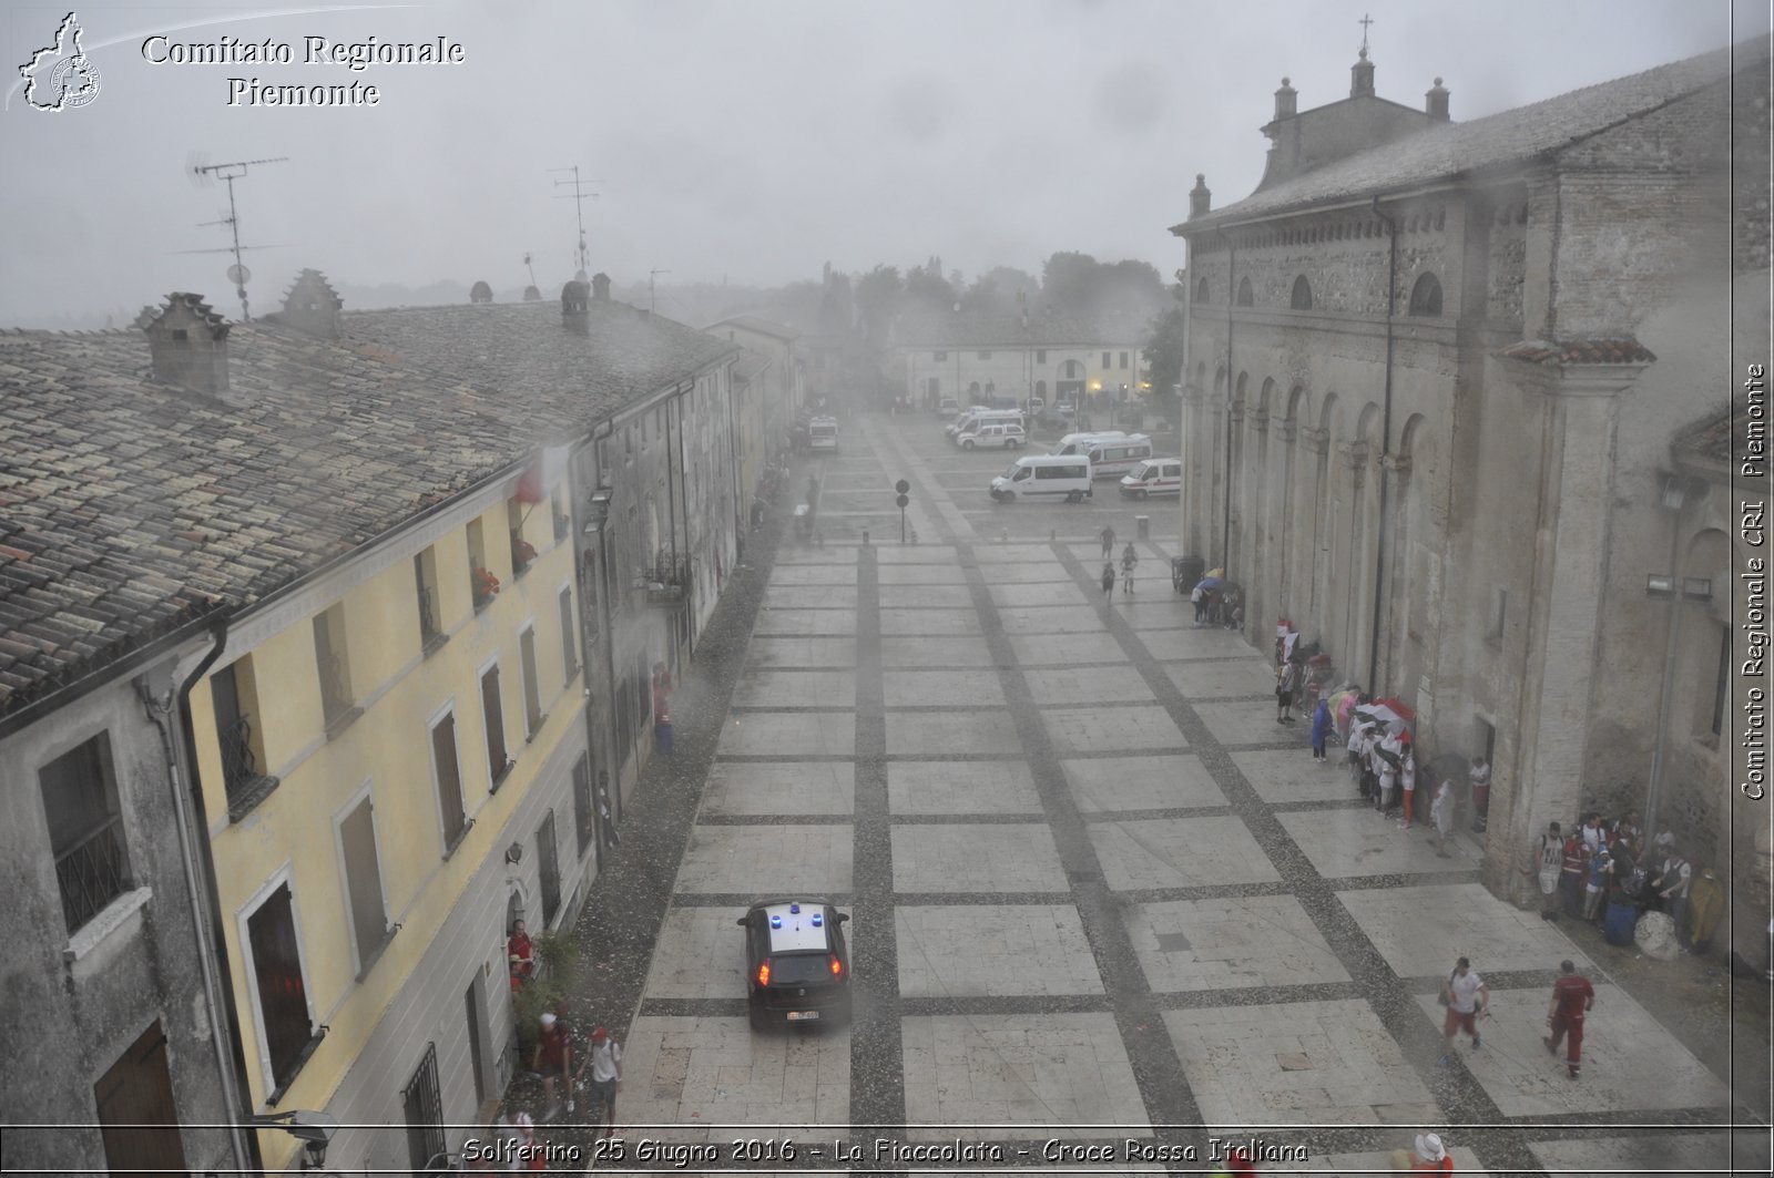
[[[800,472],[821,543],[777,554],[628,1031],[624,1125],[889,1127],[1031,1148],[1032,1173],[1054,1137],[1240,1130],[1309,1150],[1263,1173],[1373,1173],[1426,1128],[1462,1174],[1724,1171],[1730,1091],[1692,1029],[1609,976],[1616,951],[1492,896],[1464,823],[1442,859],[1313,763],[1265,653],[1171,593],[1173,504],[1137,507],[1150,538],[1114,495],[993,506],[1002,456],[930,419],[844,447]],[[1103,523],[1141,555],[1134,600],[1096,587]],[[853,915],[850,1027],[747,1027],[733,921],[784,894]],[[1444,1066],[1433,990],[1460,954],[1492,1017]],[[1600,995],[1575,1084],[1540,1043],[1561,958]],[[1765,1132],[1737,1144],[1765,1162]]]

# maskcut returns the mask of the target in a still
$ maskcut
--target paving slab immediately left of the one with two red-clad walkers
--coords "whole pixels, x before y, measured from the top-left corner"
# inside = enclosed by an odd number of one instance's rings
[[[1435,1098],[1366,1002],[1164,1011],[1208,1125],[1437,1125]]]

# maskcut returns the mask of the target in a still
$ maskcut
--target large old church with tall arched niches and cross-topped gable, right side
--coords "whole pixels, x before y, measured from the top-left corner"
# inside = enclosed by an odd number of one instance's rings
[[[1430,750],[1488,752],[1485,880],[1511,896],[1549,820],[1646,807],[1662,727],[1655,821],[1731,857],[1758,954],[1767,813],[1733,827],[1721,747],[1744,655],[1723,442],[1684,438],[1765,348],[1767,69],[1762,37],[1451,122],[1440,78],[1410,110],[1362,53],[1327,106],[1283,80],[1258,190],[1213,209],[1197,177],[1173,229],[1183,548],[1247,587],[1251,639],[1291,617]]]

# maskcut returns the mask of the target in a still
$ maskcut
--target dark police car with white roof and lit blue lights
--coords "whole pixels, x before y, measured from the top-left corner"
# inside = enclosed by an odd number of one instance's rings
[[[740,917],[752,1029],[850,1020],[848,919],[823,899],[763,899]]]

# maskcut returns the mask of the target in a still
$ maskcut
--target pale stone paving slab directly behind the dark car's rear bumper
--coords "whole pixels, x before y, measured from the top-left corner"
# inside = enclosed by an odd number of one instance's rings
[[[734,930],[738,931],[738,930]],[[623,1043],[621,1125],[630,1137],[718,1141],[795,1135],[772,1127],[850,1123],[850,1031],[754,1033],[740,1018],[644,1017]],[[697,1123],[743,1128],[704,1130]]]

